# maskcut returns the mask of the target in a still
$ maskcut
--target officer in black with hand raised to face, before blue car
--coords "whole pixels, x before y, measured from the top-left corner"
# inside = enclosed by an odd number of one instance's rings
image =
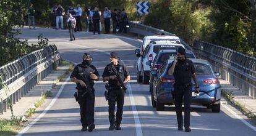
[[[199,93],[199,86],[195,76],[195,67],[191,60],[187,59],[186,50],[183,47],[177,49],[177,55],[174,57],[173,64],[168,70],[169,75],[173,75],[174,83],[174,98],[177,115],[178,130],[183,130],[182,117],[182,99],[184,97],[184,127],[186,132],[190,132],[190,101],[192,97],[192,82],[195,82],[195,92]]]

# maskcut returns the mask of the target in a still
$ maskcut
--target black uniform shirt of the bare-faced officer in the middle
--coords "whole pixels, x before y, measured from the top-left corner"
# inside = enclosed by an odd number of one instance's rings
[[[106,76],[114,76],[113,70],[111,68],[112,63],[108,64],[102,74],[102,77],[106,77]],[[120,67],[124,68],[124,70],[120,70]],[[122,66],[121,64],[117,64],[116,66],[114,65],[114,68],[116,68],[117,71],[119,71],[119,73],[123,72],[124,73],[124,78],[126,79],[127,76],[130,75],[130,73],[127,71],[127,68],[125,66]],[[109,79],[108,81],[109,86],[114,86],[116,87],[118,85],[118,81],[117,80],[112,80]]]

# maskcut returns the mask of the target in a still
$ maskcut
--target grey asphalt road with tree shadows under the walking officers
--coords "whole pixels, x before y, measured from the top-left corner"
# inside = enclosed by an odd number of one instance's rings
[[[50,106],[46,105],[48,107],[44,106],[36,111],[35,116],[30,119],[30,125],[20,135],[256,135],[256,130],[242,122],[247,119],[224,101],[220,113],[211,113],[211,110],[203,106],[192,106],[192,132],[177,131],[174,106],[166,106],[165,111],[156,111],[151,106],[148,85],[138,84],[136,81],[137,57],[134,49],[141,43],[138,39],[79,32],[75,33],[76,40],[69,42],[66,30],[45,28],[23,28],[20,38],[35,42],[39,33],[43,33],[50,43],[56,44],[61,57],[70,62],[80,63],[84,52],[92,54],[93,65],[100,75],[109,63],[109,52],[116,51],[126,63],[132,80],[124,102],[122,130],[108,130],[108,103],[103,96],[105,82],[98,81],[95,84],[96,128],[93,132],[80,132],[80,110],[73,97],[75,84],[67,80],[58,87],[59,94],[46,102]],[[237,118],[237,115],[243,119]]]

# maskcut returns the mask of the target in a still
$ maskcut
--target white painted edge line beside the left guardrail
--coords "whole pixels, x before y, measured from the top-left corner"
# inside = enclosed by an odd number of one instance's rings
[[[69,75],[70,76],[70,75]],[[69,81],[69,78],[67,78],[64,82],[64,84],[62,84],[61,88],[58,91],[58,94],[53,98],[53,100],[51,100],[51,103],[45,108],[45,110],[43,111],[43,113],[41,113],[36,119],[34,119],[27,127],[25,127],[24,129],[22,129],[19,134],[17,134],[16,136],[21,136],[23,135],[25,132],[27,132],[28,129],[30,129],[30,127],[32,127],[37,121],[39,121],[43,116],[45,116],[45,114],[47,113],[47,111],[54,105],[54,103],[56,102],[56,100],[59,98],[59,95],[61,95],[62,90],[64,89],[64,86],[67,84],[67,81]]]

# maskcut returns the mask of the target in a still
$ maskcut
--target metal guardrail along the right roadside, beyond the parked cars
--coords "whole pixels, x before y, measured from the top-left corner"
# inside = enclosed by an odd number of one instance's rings
[[[156,34],[175,35],[151,26],[129,22],[129,33],[150,36]],[[254,57],[234,50],[216,46],[208,42],[195,41],[193,48],[181,39],[186,49],[192,50],[197,57],[208,60],[213,68],[221,73],[221,78],[231,82],[239,89],[247,91],[250,97],[256,98],[256,60]]]

